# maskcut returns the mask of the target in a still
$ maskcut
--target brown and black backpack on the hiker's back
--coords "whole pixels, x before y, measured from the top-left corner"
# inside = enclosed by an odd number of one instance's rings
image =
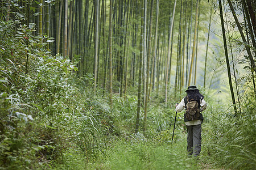
[[[194,99],[191,99],[189,101],[187,96],[184,100],[186,109],[185,116],[187,117],[188,121],[198,120],[200,116],[200,104]]]

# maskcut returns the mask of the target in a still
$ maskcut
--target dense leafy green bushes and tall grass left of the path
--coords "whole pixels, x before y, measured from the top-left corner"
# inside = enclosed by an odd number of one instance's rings
[[[77,87],[83,80],[73,74],[76,63],[40,55],[34,63],[25,75],[0,60],[0,168],[36,169],[61,163],[73,143],[87,159],[104,153],[105,130],[93,110],[97,99]]]

